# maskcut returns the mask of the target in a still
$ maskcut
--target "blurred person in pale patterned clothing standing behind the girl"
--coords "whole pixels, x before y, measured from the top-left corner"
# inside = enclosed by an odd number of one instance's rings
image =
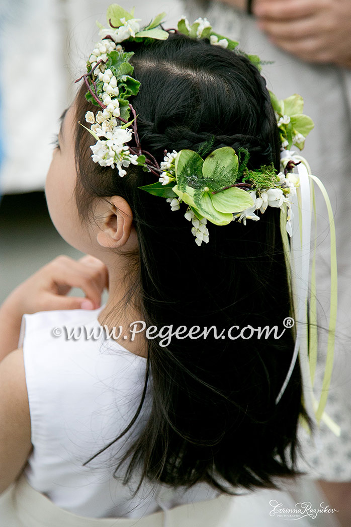
[[[340,510],[345,525],[351,518],[350,396],[351,344],[351,2],[349,0],[223,0],[187,4],[188,15],[199,12],[218,32],[240,42],[247,53],[268,63],[263,74],[269,88],[284,93],[303,93],[305,112],[315,122],[313,138],[306,145],[312,171],[324,182],[333,201],[338,257],[338,324],[336,365],[327,413],[341,426],[336,438],[323,425],[317,445],[307,446],[308,465],[326,496]],[[198,16],[198,15],[197,15]],[[318,198],[317,198],[318,200]],[[317,201],[318,210],[318,201]],[[318,217],[319,232],[327,232]],[[317,294],[321,301],[321,325],[327,300],[329,272],[326,234],[317,238]],[[322,263],[323,262],[323,263]],[[324,265],[323,265],[324,264]],[[321,360],[321,364],[323,358]],[[319,385],[320,388],[320,379]],[[308,443],[308,438],[305,438]],[[331,482],[331,483],[328,483]],[[307,499],[306,494],[300,496]]]

